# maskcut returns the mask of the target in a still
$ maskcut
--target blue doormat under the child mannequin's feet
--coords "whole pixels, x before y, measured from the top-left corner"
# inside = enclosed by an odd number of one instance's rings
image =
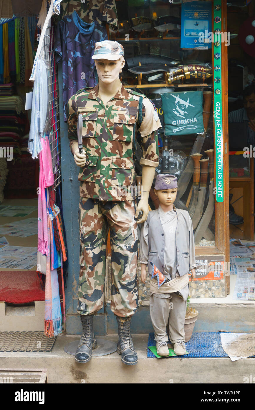
[[[221,345],[220,332],[193,332],[189,342],[185,343],[188,355],[172,356],[172,358],[227,358]],[[156,346],[154,333],[149,333],[148,346]],[[147,348],[147,357],[156,356]],[[255,357],[255,356],[253,356]]]

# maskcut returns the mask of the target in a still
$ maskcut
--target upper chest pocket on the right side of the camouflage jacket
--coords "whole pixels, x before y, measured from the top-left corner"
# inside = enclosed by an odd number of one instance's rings
[[[117,141],[131,142],[135,125],[135,115],[129,115],[122,111],[116,111],[113,117],[113,139]]]

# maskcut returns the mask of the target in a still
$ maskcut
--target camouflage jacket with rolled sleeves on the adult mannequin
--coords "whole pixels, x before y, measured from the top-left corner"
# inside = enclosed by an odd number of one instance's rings
[[[99,200],[132,200],[135,192],[133,131],[138,121],[139,96],[121,85],[106,107],[98,97],[99,84],[81,89],[67,105],[70,148],[77,141],[78,115],[83,117],[83,148],[86,166],[80,168],[80,196]],[[143,120],[139,131],[142,143],[141,165],[158,166],[157,129],[161,127],[156,110],[143,96]],[[136,127],[135,127],[136,132]]]

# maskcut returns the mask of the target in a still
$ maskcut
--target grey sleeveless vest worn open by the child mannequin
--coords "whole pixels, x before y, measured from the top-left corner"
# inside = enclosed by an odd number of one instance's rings
[[[177,270],[180,276],[185,275],[190,270],[190,228],[189,213],[176,209],[176,251],[177,251]],[[149,212],[147,217],[149,225],[149,260],[164,274],[165,272],[165,234],[160,222],[158,210]],[[192,232],[193,235],[193,232]],[[148,272],[151,275],[152,266],[148,263]]]

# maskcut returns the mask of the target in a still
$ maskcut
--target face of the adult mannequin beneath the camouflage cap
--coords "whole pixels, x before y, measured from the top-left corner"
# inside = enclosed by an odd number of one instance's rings
[[[125,60],[123,57],[120,57],[120,59],[113,61],[106,59],[95,60],[99,80],[101,80],[105,84],[112,84],[119,78],[124,64]]]

